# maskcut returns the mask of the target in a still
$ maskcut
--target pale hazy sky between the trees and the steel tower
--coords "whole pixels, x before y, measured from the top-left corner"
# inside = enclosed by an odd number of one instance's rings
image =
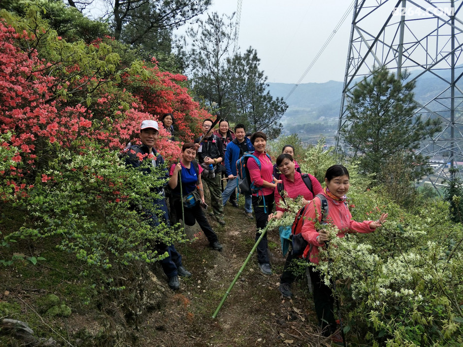
[[[238,1],[214,0],[231,14]],[[297,83],[349,7],[350,0],[242,0],[238,44],[257,50],[267,82]],[[301,83],[343,81],[352,13]]]

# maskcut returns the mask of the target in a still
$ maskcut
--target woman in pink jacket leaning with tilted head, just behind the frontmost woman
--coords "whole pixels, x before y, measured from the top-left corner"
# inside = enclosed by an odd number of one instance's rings
[[[323,191],[322,185],[314,176],[310,174],[301,175],[296,170],[296,164],[291,155],[280,154],[276,158],[276,166],[281,173],[280,179],[282,183],[277,185],[277,189],[275,189],[276,212],[268,216],[268,221],[272,218],[280,219],[283,217],[283,214],[287,211],[285,198],[296,199],[301,195],[302,204],[307,205],[315,195]],[[283,274],[280,277],[280,286],[278,287],[283,297],[293,297],[291,284],[296,279],[293,270],[298,258],[299,256],[294,255],[293,252],[289,252],[286,258]],[[292,263],[293,266],[291,266]]]

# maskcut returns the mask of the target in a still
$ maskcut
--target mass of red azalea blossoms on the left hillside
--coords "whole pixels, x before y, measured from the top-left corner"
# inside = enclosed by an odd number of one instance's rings
[[[72,104],[56,93],[63,88],[76,90],[102,77],[82,76],[74,82],[60,80],[59,75],[50,73],[56,62],[40,59],[33,48],[22,51],[20,47],[28,45],[18,44],[35,39],[35,35],[17,33],[0,20],[0,134],[11,134],[0,146],[15,151],[10,156],[12,164],[1,170],[0,179],[16,192],[30,187],[36,177],[44,183],[52,179],[40,169],[46,167],[46,160],[53,156],[56,146],[79,151],[88,141],[95,141],[119,152],[128,142],[138,141],[143,120],[160,121],[166,112],[174,113],[180,139],[191,141],[202,120],[210,117],[181,86],[185,76],[161,72],[157,66],[145,67],[148,78],[126,76],[111,93],[103,87],[96,89],[91,95],[96,101],[89,107]],[[95,49],[100,42],[94,44]],[[80,73],[81,68],[71,63],[64,71]],[[110,80],[111,76],[104,78]],[[123,104],[121,100],[129,101]],[[157,149],[166,161],[180,154],[178,142],[168,141],[168,136],[160,126]]]

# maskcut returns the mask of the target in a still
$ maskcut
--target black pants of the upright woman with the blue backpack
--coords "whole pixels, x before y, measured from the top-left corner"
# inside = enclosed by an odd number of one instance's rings
[[[252,196],[252,206],[256,216],[256,242],[261,236],[259,230],[264,229],[267,225],[268,215],[272,213],[273,202],[273,194]],[[257,260],[259,261],[259,264],[270,263],[267,250],[267,233],[265,233],[261,242],[257,246]]]

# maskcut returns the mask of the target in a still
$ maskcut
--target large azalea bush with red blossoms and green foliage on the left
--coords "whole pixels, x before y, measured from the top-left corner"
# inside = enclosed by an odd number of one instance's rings
[[[182,85],[185,76],[160,71],[154,60],[122,60],[127,47],[111,37],[66,42],[28,6],[26,17],[1,11],[0,20],[0,205],[26,216],[1,235],[10,247],[2,254],[12,259],[21,241],[46,242],[111,283],[114,271],[159,260],[165,254],[156,246],[182,236],[147,222],[164,172],[149,167],[148,180],[120,154],[140,144],[145,119],[173,112],[180,139],[190,140],[210,115]],[[181,142],[162,126],[159,133],[158,151],[176,160]]]

